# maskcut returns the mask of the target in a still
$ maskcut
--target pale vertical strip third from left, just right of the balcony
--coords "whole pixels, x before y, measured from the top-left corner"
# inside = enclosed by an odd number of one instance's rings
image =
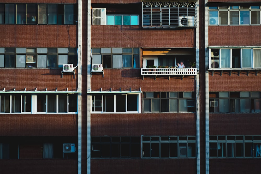
[[[199,23],[199,1],[197,1],[197,24]],[[197,174],[200,173],[200,107],[199,107],[199,26],[196,27],[196,127],[197,127]]]

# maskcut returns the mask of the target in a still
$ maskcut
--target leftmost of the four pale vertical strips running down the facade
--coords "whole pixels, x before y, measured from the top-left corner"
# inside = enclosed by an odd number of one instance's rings
[[[78,1],[78,90],[82,91],[82,2]],[[77,67],[76,66],[76,67]],[[82,93],[78,95],[78,174],[81,174],[82,168]]]

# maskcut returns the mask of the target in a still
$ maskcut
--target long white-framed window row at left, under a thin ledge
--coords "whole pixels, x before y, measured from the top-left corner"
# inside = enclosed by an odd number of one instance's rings
[[[76,113],[77,94],[0,94],[0,113],[36,112]]]

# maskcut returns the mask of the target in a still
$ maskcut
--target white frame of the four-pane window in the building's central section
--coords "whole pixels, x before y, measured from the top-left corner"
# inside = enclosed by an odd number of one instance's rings
[[[94,95],[94,100],[95,100],[95,95],[98,95],[99,92],[97,92],[97,94],[92,94]],[[117,94],[117,93],[112,93],[111,95],[113,95],[113,112],[104,112],[104,102],[105,102],[105,98],[104,95],[109,94],[109,92],[107,93],[103,93],[100,94],[102,95],[102,111],[92,111],[91,109],[91,113],[141,113],[141,99],[140,99],[140,93],[126,93],[126,94]],[[116,95],[126,95],[126,112],[116,112]],[[138,95],[137,96],[137,111],[128,111],[128,95]],[[94,109],[95,109],[95,102],[94,102]]]

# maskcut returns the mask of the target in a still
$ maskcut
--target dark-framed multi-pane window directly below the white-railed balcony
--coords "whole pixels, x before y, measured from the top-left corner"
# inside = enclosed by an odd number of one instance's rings
[[[195,92],[143,92],[143,112],[195,112]]]

